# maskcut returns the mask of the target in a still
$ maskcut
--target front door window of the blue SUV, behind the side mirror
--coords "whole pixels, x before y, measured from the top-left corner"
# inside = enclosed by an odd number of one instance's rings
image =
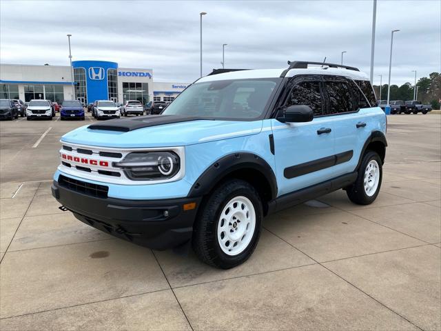
[[[302,81],[291,90],[287,100],[287,106],[306,105],[314,112],[314,116],[323,114],[322,96],[318,81]]]

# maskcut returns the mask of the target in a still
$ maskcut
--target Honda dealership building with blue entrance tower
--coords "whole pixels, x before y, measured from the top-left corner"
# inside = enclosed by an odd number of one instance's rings
[[[153,70],[120,68],[109,61],[73,61],[70,66],[0,64],[0,99],[79,99],[171,102],[189,83],[153,82]]]

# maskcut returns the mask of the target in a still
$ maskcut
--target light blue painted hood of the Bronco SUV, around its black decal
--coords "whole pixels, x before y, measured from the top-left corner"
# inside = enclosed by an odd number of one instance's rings
[[[258,134],[262,130],[262,125],[263,121],[212,121],[198,119],[181,123],[149,126],[128,132],[96,130],[83,126],[63,135],[61,141],[113,148],[188,146],[207,141]]]

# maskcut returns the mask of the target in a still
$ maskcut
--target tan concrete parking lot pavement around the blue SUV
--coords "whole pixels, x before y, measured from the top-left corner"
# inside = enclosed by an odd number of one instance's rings
[[[0,329],[440,330],[441,115],[388,120],[373,204],[340,190],[273,214],[232,270],[58,209],[59,139],[92,119],[1,122]]]

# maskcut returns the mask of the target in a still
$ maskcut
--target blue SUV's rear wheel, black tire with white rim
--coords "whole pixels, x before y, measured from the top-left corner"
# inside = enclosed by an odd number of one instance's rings
[[[358,177],[346,193],[353,203],[369,205],[375,201],[380,192],[382,181],[382,161],[380,156],[369,150],[358,168]]]

